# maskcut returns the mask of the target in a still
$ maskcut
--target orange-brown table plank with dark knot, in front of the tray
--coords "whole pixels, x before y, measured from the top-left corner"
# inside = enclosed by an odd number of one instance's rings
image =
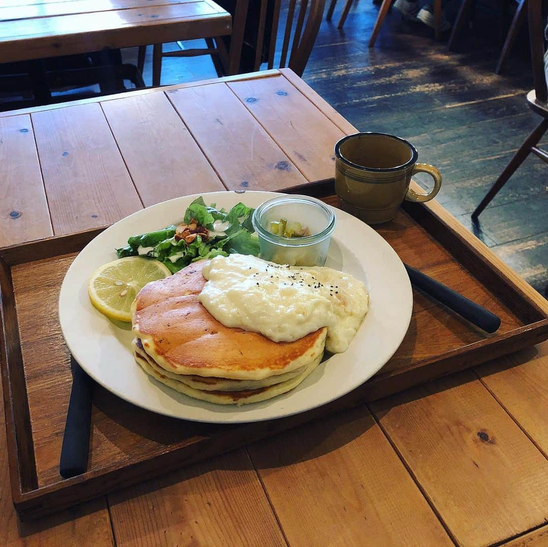
[[[490,545],[545,521],[548,462],[472,372],[371,407],[459,545]]]

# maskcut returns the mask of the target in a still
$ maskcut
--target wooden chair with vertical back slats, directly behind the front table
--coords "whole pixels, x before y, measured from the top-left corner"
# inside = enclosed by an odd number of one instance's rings
[[[262,55],[263,46],[265,45],[266,15],[269,0],[259,1],[261,4],[254,60],[255,71],[260,70],[260,66],[263,62]],[[318,36],[326,0],[289,0],[288,4],[279,67],[289,66],[289,68],[301,76],[310,57],[312,47],[316,42],[316,37]],[[162,53],[162,44],[156,44],[153,47],[152,85],[159,85],[160,83],[162,57],[211,55],[218,76],[237,74],[239,61],[242,55],[248,6],[249,0],[238,0],[237,2],[229,51],[226,50],[224,42],[217,38],[209,38],[206,40],[208,48],[184,49],[181,51],[169,51],[165,53]],[[274,66],[280,16],[281,0],[274,0],[270,43],[267,48],[268,58],[265,60],[268,64],[268,68],[273,68]],[[140,66],[144,66],[144,55],[140,55],[139,61],[141,62]]]

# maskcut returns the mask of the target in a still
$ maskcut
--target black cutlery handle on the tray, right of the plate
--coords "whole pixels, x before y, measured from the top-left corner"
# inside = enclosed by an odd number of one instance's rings
[[[470,323],[486,332],[495,332],[500,327],[500,318],[494,313],[478,306],[475,302],[459,295],[458,292],[438,283],[438,281],[419,272],[419,270],[407,266],[407,264],[404,264],[404,266],[413,285],[426,292],[427,295],[436,298],[437,301],[445,304],[455,313],[469,320]]]

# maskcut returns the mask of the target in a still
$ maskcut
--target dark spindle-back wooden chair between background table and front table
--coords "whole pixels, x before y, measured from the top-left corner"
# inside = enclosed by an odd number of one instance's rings
[[[160,83],[163,57],[210,55],[218,76],[258,71],[262,64],[267,64],[267,68],[275,64],[289,67],[302,75],[318,36],[326,1],[289,0],[287,12],[281,9],[281,0],[235,0],[231,4],[233,30],[229,39],[207,39],[207,47],[200,49],[163,52],[161,44],[153,47],[153,85]],[[276,39],[278,27],[284,29],[281,44]],[[281,45],[279,54],[277,45]],[[184,44],[180,47],[184,48]],[[144,51],[140,48],[141,66]]]

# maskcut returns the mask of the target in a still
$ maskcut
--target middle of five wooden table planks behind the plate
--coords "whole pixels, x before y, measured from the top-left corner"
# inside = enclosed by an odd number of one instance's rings
[[[163,93],[101,106],[145,206],[225,189]]]

